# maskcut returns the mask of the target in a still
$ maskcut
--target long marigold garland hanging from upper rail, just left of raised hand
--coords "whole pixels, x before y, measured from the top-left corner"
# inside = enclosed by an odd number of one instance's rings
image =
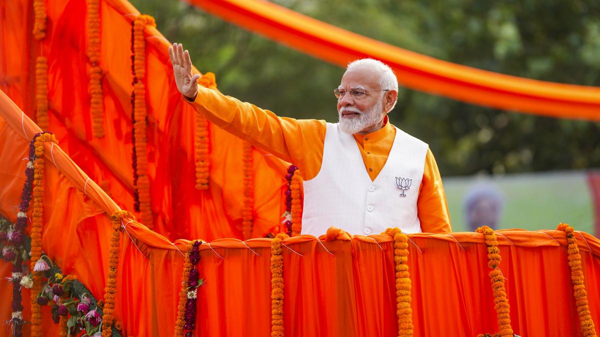
[[[137,197],[136,205],[142,213],[141,221],[148,228],[153,228],[152,208],[150,200],[150,179],[148,177],[148,148],[146,139],[146,88],[143,80],[146,77],[146,38],[144,29],[146,25],[156,26],[154,18],[140,15],[133,21],[132,29],[132,70],[133,70],[133,148],[134,154],[134,186]],[[137,207],[136,207],[137,210]]]

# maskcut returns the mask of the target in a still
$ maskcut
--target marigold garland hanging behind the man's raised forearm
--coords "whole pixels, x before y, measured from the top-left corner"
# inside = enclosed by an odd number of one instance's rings
[[[206,73],[198,80],[198,84],[209,89],[217,89],[215,74]],[[210,176],[208,121],[196,114],[196,188],[200,191],[208,189]]]

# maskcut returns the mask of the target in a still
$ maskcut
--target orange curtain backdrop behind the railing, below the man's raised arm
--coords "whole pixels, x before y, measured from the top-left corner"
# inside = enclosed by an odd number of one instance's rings
[[[131,168],[131,22],[139,12],[126,1],[100,2],[104,130],[92,137],[86,2],[47,1],[47,37],[32,41],[30,0],[0,2],[0,89],[28,116],[35,58],[48,59],[49,131],[61,148],[123,209],[133,210]],[[148,175],[155,230],[172,240],[242,237],[242,142],[209,125],[211,185],[195,188],[196,112],[181,100],[173,81],[168,41],[146,27]],[[40,50],[38,50],[40,49]],[[22,57],[27,56],[27,57]],[[254,232],[263,237],[280,225],[285,210],[287,165],[253,151]]]

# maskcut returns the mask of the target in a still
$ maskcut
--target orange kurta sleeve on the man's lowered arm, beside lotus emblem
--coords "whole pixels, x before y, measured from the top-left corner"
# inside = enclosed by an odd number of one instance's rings
[[[430,149],[427,149],[427,155],[425,155],[425,167],[417,207],[421,230],[424,233],[452,231],[442,176],[440,170],[437,169],[436,158],[433,157]]]

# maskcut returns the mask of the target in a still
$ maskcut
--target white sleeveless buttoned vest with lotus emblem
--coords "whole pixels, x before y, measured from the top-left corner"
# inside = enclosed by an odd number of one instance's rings
[[[302,234],[319,236],[331,226],[361,235],[389,227],[421,233],[417,199],[427,149],[396,128],[388,160],[371,181],[354,137],[328,123],[321,169],[304,182]]]

